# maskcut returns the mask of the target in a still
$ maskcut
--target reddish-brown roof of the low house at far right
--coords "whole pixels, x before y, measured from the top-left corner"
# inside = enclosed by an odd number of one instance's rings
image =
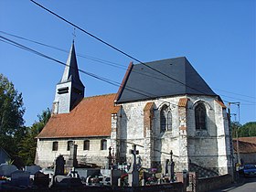
[[[237,139],[233,139],[233,147],[237,152]],[[240,137],[239,150],[241,154],[256,153],[256,137]]]

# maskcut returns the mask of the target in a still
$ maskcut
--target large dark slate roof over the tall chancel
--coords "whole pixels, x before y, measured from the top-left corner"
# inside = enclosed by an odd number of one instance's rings
[[[143,101],[175,95],[217,96],[185,57],[130,64],[118,91],[116,103]],[[160,74],[154,69],[165,73]]]

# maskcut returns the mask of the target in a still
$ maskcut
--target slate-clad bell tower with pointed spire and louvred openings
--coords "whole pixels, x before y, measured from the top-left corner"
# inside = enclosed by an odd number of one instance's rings
[[[84,85],[80,81],[74,41],[69,51],[69,58],[63,76],[56,86],[52,113],[70,112],[84,97]]]

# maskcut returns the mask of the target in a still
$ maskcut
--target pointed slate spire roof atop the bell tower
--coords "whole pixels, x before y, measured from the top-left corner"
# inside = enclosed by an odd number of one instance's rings
[[[75,82],[76,84],[79,84],[80,86],[84,87],[84,85],[80,81],[80,74],[79,74],[79,69],[78,69],[78,63],[77,63],[74,42],[72,43],[72,46],[70,48],[69,58],[67,59],[66,67],[64,69],[63,76],[62,76],[61,80],[59,81],[59,84],[69,82],[71,80],[73,82]]]

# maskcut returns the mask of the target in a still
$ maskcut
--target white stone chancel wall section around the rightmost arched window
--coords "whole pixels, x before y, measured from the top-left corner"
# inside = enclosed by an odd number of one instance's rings
[[[188,156],[192,163],[228,173],[230,163],[229,125],[227,112],[217,98],[189,97],[188,102]],[[207,109],[207,130],[196,131],[195,106],[203,101]]]

